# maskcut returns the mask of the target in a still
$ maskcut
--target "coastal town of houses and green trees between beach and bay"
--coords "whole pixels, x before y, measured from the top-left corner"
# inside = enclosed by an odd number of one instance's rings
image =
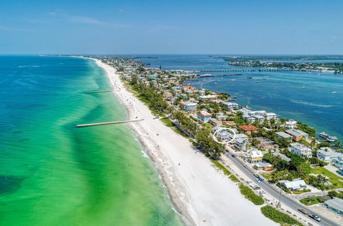
[[[88,57],[113,66],[154,120],[187,138],[255,205],[267,203],[263,208],[273,207],[268,211],[302,222],[342,224],[343,154],[337,138],[273,112],[241,106],[229,94],[185,84],[197,76],[193,72],[147,68],[138,58]],[[213,134],[231,142],[223,145]],[[289,210],[281,208],[279,193],[292,200]]]

